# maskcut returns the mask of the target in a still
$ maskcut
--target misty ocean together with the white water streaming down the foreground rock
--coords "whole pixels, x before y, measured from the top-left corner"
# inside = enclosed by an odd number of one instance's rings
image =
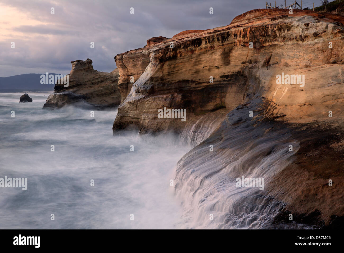
[[[49,93],[29,93],[32,103],[21,95],[0,93],[0,178],[28,180],[27,190],[0,187],[0,229],[313,228],[273,222],[283,203],[236,187],[245,176],[265,178],[269,189],[293,162],[286,148],[299,148],[288,129],[270,130],[273,122],[252,127],[247,108],[208,139],[206,124],[191,128],[198,143],[206,139],[193,148],[187,133],[113,135],[117,109],[91,117],[73,106],[42,109]]]

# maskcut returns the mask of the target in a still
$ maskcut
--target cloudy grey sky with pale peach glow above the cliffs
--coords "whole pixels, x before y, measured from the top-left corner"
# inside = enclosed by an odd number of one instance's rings
[[[68,74],[71,61],[86,58],[96,70],[110,72],[116,68],[116,54],[141,48],[149,38],[228,25],[241,13],[265,8],[265,1],[0,0],[0,76]],[[320,5],[320,0],[314,2]],[[303,8],[312,3],[303,1]]]

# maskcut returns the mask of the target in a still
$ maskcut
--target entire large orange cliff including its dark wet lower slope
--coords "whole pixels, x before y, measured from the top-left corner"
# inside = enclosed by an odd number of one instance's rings
[[[119,54],[122,98],[130,92],[113,129],[173,130],[190,143],[204,141],[181,159],[176,174],[176,191],[185,203],[199,203],[198,210],[226,213],[233,202],[202,198],[236,177],[265,177],[265,191],[237,200],[246,209],[220,216],[227,224],[252,210],[278,210],[277,222],[293,213],[296,222],[330,225],[344,215],[343,23],[340,15],[308,10],[252,10],[225,27]],[[186,109],[186,120],[159,118],[164,107]]]

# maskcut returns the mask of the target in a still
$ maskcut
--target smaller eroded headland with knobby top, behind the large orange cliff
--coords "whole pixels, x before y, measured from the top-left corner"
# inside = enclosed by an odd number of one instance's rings
[[[118,70],[111,73],[93,69],[92,60],[72,61],[69,84],[57,82],[43,108],[60,108],[68,104],[82,107],[105,108],[119,105]]]

